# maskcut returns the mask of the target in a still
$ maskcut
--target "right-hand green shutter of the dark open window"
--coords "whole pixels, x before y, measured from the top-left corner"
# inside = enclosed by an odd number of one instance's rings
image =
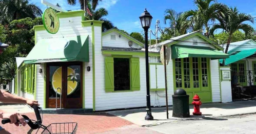
[[[132,91],[141,90],[139,58],[131,58],[131,90]]]

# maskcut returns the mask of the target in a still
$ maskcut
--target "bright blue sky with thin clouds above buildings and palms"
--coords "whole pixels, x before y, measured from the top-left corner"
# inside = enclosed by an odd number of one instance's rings
[[[70,6],[65,0],[54,0],[48,2],[52,4],[60,4],[65,10],[79,10],[80,5]],[[256,3],[255,0],[219,0],[228,6],[237,6],[241,12],[251,14],[256,17]],[[40,0],[31,0],[31,3],[39,6],[43,11],[47,8],[41,4]],[[104,7],[109,11],[109,15],[105,18],[111,20],[113,24],[119,28],[131,32],[142,32],[143,29],[140,24],[139,16],[147,8],[148,12],[153,16],[151,28],[154,28],[156,19],[160,20],[162,28],[168,27],[163,24],[165,9],[174,9],[177,12],[184,12],[190,9],[195,9],[193,0],[102,0],[98,7]],[[251,24],[256,28],[255,24]]]

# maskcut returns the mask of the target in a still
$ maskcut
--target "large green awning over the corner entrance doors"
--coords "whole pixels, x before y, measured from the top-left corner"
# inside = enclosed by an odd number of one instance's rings
[[[61,61],[89,62],[88,35],[40,39],[30,51],[24,63]]]

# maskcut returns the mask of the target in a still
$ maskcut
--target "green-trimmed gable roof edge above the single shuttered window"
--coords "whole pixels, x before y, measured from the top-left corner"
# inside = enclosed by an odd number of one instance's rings
[[[144,47],[144,43],[142,43],[141,41],[139,41],[139,40],[137,40],[137,39],[131,37],[130,35],[124,33],[123,31],[119,30],[119,29],[116,28],[116,27],[114,27],[114,28],[112,28],[112,29],[109,29],[109,30],[103,32],[103,33],[102,33],[102,36],[104,36],[104,35],[106,35],[106,34],[109,34],[109,33],[112,33],[112,32],[117,32],[117,33],[121,34],[122,36],[124,36],[124,37],[130,39],[131,41],[133,41],[133,42],[139,44],[141,47]]]

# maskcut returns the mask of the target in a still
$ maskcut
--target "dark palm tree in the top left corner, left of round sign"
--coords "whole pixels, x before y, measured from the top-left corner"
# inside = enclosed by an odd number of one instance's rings
[[[2,0],[0,9],[0,21],[5,20],[8,23],[14,19],[35,18],[43,13],[35,4],[29,4],[29,0]]]

